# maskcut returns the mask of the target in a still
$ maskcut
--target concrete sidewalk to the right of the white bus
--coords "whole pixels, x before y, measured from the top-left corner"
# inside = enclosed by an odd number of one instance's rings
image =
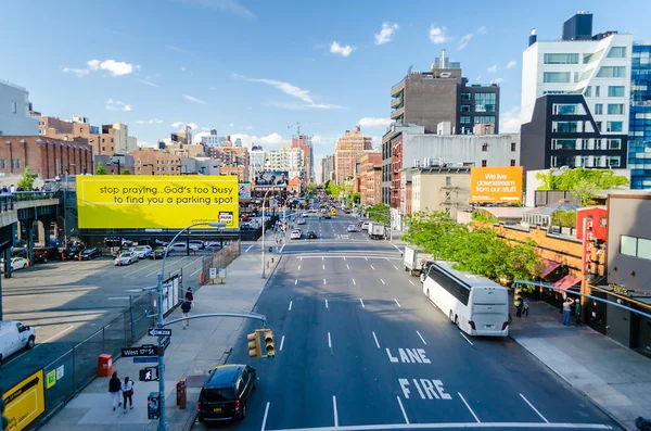
[[[558,308],[532,302],[510,337],[628,430],[651,416],[651,359],[588,326],[565,327]]]

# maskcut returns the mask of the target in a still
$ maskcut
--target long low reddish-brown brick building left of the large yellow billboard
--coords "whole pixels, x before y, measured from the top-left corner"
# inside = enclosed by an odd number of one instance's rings
[[[86,139],[2,136],[0,140],[0,174],[5,177],[23,175],[25,166],[43,179],[92,173],[92,147]]]

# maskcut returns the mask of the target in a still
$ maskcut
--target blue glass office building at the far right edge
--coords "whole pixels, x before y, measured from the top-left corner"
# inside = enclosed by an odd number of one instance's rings
[[[651,189],[651,42],[633,45],[628,167],[631,189]]]

